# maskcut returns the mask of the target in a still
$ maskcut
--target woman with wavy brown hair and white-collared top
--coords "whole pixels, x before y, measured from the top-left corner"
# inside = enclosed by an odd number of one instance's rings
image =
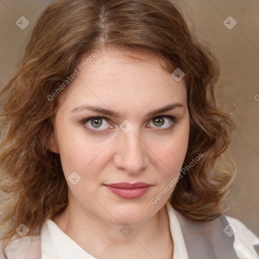
[[[219,76],[167,0],[51,4],[0,93],[3,258],[257,258]]]

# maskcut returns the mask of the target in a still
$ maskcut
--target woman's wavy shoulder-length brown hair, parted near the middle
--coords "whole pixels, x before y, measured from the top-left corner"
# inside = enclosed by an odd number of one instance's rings
[[[166,61],[167,72],[176,67],[184,71],[190,136],[183,167],[199,153],[203,158],[179,181],[169,201],[197,221],[228,210],[224,204],[235,165],[231,158],[224,161],[227,168],[216,162],[231,142],[234,122],[215,102],[221,69],[177,5],[169,0],[57,0],[38,18],[16,72],[0,92],[5,256],[8,243],[19,237],[18,226],[25,224],[28,235],[37,235],[45,221],[68,204],[59,154],[46,146],[58,107],[58,98],[50,101],[48,96],[73,73],[82,56],[104,46],[153,53]]]

